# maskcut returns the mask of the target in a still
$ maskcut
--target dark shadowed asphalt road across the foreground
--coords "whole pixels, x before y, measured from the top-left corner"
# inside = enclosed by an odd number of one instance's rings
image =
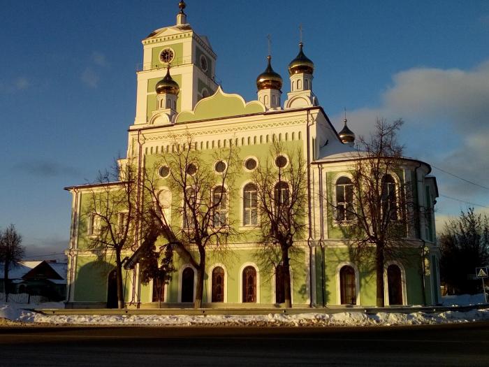
[[[0,329],[0,366],[489,366],[489,322]]]

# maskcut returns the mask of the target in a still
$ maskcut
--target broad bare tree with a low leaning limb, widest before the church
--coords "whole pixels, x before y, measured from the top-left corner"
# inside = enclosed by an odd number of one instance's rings
[[[228,237],[236,234],[228,198],[237,159],[231,140],[226,143],[211,154],[196,150],[189,134],[174,138],[172,150],[145,171],[144,210],[166,245],[196,269],[195,308],[202,306],[207,252],[226,250]]]

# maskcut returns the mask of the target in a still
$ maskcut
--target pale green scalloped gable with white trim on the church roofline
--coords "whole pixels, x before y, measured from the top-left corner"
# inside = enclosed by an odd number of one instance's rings
[[[177,115],[176,123],[209,120],[221,117],[264,113],[265,106],[259,101],[246,103],[239,94],[224,93],[221,87],[210,97],[201,99],[193,111],[182,111]]]

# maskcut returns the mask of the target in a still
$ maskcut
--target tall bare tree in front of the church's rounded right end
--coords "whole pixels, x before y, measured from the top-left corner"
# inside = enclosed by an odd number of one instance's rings
[[[365,264],[374,255],[379,307],[384,306],[384,266],[403,256],[416,214],[411,187],[395,179],[403,162],[404,147],[397,143],[402,123],[377,120],[370,138],[360,136],[351,179],[337,182],[336,200],[329,200],[353,257]]]

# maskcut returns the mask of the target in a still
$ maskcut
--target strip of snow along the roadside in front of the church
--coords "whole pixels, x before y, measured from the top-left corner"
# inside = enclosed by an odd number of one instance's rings
[[[481,299],[479,299],[482,297]],[[448,305],[480,303],[483,295],[449,297]],[[63,303],[43,303],[39,308],[63,308]],[[388,326],[446,324],[489,320],[489,308],[467,312],[340,312],[334,314],[307,312],[298,315],[270,313],[268,315],[41,315],[24,310],[32,305],[0,304],[0,318],[26,324],[97,324],[97,325],[258,325],[258,326]]]

